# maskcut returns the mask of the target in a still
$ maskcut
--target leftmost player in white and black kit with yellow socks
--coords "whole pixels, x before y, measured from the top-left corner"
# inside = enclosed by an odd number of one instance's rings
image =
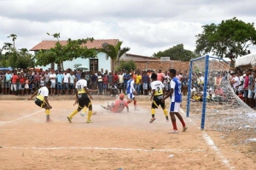
[[[32,99],[35,95],[37,95],[35,104],[38,105],[39,107],[42,107],[45,109],[45,114],[46,114],[46,122],[50,122],[49,119],[49,110],[52,109],[52,107],[49,105],[48,101],[48,94],[50,88],[51,82],[46,82],[46,87],[39,88],[34,94],[29,99]]]

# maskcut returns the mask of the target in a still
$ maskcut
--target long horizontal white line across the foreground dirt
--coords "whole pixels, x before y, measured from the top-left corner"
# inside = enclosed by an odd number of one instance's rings
[[[137,151],[159,151],[159,152],[175,152],[175,151],[205,151],[205,150],[146,150],[141,148],[101,148],[101,147],[5,147],[2,146],[2,149],[14,149],[14,150],[137,150]],[[0,149],[1,150],[1,149]]]

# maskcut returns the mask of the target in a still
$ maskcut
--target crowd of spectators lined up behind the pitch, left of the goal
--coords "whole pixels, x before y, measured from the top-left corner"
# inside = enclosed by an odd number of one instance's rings
[[[2,95],[29,95],[34,93],[38,88],[43,87],[46,82],[52,82],[49,95],[73,95],[75,84],[81,78],[80,70],[67,69],[62,71],[48,69],[15,69],[15,70],[0,70],[0,94]],[[126,83],[130,79],[130,74],[133,74],[135,89],[137,95],[151,95],[151,74],[157,73],[157,79],[164,83],[166,93],[170,90],[171,78],[168,72],[161,70],[130,70],[130,71],[114,71],[101,69],[101,71],[85,71],[88,88],[98,89],[97,95],[118,95],[126,94]],[[188,87],[189,76],[185,71],[183,76],[181,71],[178,71],[177,77],[183,81],[183,87]],[[183,88],[184,89],[184,88]],[[187,90],[183,93],[186,94]]]

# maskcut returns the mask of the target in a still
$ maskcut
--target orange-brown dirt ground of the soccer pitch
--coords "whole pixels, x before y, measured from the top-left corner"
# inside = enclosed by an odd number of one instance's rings
[[[160,109],[149,123],[148,96],[137,97],[137,111],[130,105],[119,114],[100,106],[115,98],[95,96],[90,124],[79,113],[67,121],[73,97],[49,98],[50,123],[25,99],[0,96],[0,169],[256,169],[255,142],[236,144],[236,132],[201,131],[182,113],[188,131],[177,120],[179,133],[170,134]]]

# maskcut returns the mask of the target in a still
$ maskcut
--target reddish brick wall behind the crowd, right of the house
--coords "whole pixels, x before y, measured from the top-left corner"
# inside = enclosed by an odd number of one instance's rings
[[[137,69],[141,70],[159,70],[167,71],[170,68],[175,70],[181,70],[182,72],[185,70],[189,71],[189,61],[170,61],[170,62],[160,62],[160,61],[135,61],[137,65]]]

